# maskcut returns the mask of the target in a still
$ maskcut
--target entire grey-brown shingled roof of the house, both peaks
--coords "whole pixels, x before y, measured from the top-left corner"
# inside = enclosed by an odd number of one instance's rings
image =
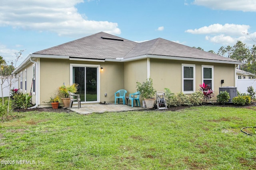
[[[49,49],[35,52],[39,55],[61,55],[78,59],[130,59],[142,55],[165,57],[180,57],[184,59],[201,59],[211,61],[237,62],[239,61],[214,55],[199,49],[174,43],[166,39],[157,38],[143,43],[136,43],[127,39],[100,32],[81,39],[70,41]]]

